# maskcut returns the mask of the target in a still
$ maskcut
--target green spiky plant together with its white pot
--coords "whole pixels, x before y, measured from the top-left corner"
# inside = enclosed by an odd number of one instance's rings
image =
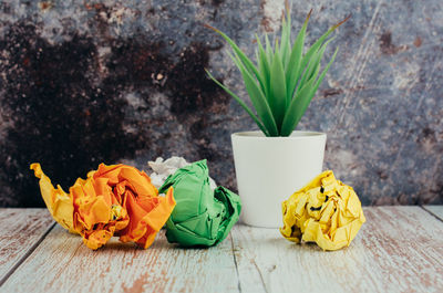
[[[229,54],[239,69],[256,114],[208,71],[208,76],[230,94],[256,122],[260,132],[231,135],[241,220],[246,224],[276,228],[281,223],[281,202],[321,172],[326,134],[295,130],[312,96],[331,66],[338,49],[321,70],[321,60],[333,38],[328,36],[347,19],[331,27],[305,50],[311,11],[291,42],[291,20],[287,6],[280,38],[274,45],[265,34],[257,36],[257,64],[225,33],[214,29],[230,45]]]

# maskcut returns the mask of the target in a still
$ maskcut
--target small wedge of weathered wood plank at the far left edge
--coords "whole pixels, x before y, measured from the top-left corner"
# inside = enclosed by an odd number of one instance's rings
[[[45,209],[0,209],[0,285],[52,224]]]

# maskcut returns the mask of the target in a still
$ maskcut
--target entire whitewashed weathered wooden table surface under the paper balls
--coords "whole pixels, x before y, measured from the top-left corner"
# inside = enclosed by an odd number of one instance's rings
[[[241,224],[209,249],[161,231],[147,250],[113,239],[92,251],[45,209],[0,209],[0,292],[443,292],[443,206],[364,214],[333,252]]]

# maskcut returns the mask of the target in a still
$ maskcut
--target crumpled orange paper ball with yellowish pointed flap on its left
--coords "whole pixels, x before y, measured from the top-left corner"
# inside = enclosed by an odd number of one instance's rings
[[[101,164],[86,179],[79,178],[66,193],[41,169],[31,169],[40,178],[40,190],[52,217],[63,228],[82,236],[90,249],[99,249],[111,237],[148,248],[175,207],[174,189],[159,197],[150,177],[126,165]]]

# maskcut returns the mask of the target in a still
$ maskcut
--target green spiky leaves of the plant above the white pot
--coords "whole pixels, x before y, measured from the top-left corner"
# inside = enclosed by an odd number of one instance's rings
[[[282,17],[280,42],[278,38],[275,38],[272,48],[268,35],[265,34],[265,48],[260,38],[256,35],[257,65],[229,36],[207,25],[219,33],[230,45],[233,54],[229,55],[241,73],[246,91],[257,115],[241,98],[206,71],[208,76],[241,105],[266,136],[289,136],[297,127],[336,59],[338,48],[320,73],[321,59],[327,45],[333,40],[328,36],[349,19],[348,17],[331,27],[303,53],[306,29],[312,10],[308,13],[293,43],[291,42],[291,19],[288,6],[286,10],[287,17],[285,18],[285,14]]]

